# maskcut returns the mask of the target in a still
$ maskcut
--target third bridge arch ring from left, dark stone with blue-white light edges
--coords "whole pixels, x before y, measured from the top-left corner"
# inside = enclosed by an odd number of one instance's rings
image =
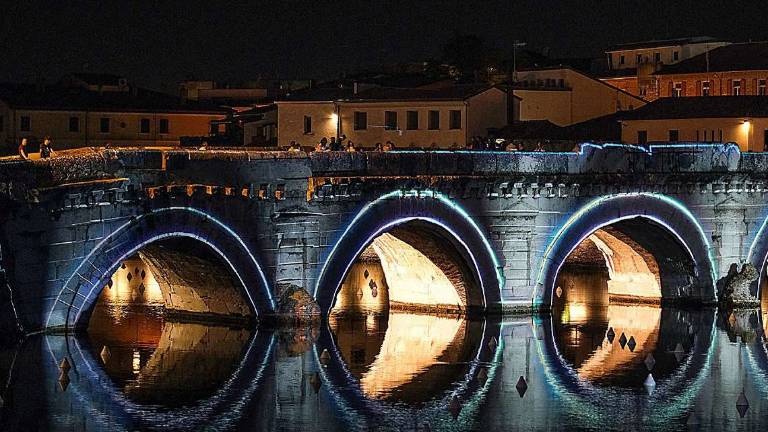
[[[672,280],[674,277],[665,280],[665,269],[660,265],[662,299],[717,301],[717,266],[704,230],[693,214],[683,204],[665,195],[626,193],[607,195],[585,204],[555,232],[541,260],[533,294],[534,307],[551,307],[557,275],[569,255],[597,231],[617,224],[633,232],[629,237],[652,236],[653,233],[657,233],[657,238],[658,235],[668,237],[670,241],[667,243],[677,243],[685,251],[682,258],[692,262],[691,280],[687,284]],[[648,233],[643,232],[643,228],[647,228]],[[653,238],[649,237],[644,243],[645,246],[652,244]],[[673,272],[666,273],[671,275]]]

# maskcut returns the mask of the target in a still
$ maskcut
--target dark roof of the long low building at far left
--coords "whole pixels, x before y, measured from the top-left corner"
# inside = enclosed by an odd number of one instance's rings
[[[0,83],[0,101],[11,108],[52,111],[226,113],[227,110],[136,88],[95,92],[77,86]]]

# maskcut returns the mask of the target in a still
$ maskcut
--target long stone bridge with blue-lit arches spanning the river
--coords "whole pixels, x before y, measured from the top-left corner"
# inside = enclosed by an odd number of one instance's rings
[[[127,257],[168,241],[182,252],[207,245],[260,318],[276,314],[290,286],[328,313],[353,261],[383,233],[463,278],[468,311],[547,310],[566,257],[601,228],[655,257],[663,300],[714,303],[733,264],[765,274],[767,174],[768,154],[693,143],[6,160],[0,320],[25,332],[83,325]],[[195,275],[181,276],[194,285]]]

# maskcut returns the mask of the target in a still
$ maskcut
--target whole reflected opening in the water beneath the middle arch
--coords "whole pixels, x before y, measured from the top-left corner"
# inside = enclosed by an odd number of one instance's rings
[[[479,321],[404,312],[338,318],[331,327],[341,359],[366,397],[409,403],[450,388],[467,372],[483,336]]]

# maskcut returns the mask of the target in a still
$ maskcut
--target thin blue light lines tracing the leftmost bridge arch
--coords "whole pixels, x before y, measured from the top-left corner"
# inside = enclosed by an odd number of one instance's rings
[[[206,219],[214,222],[217,226],[223,228],[229,235],[231,235],[233,238],[235,238],[237,240],[237,242],[240,244],[240,246],[246,251],[246,253],[248,253],[249,258],[251,259],[253,264],[256,266],[256,269],[259,272],[259,277],[261,278],[261,281],[263,283],[264,290],[267,292],[267,298],[269,299],[270,306],[272,307],[273,311],[276,309],[275,300],[272,297],[272,292],[269,289],[269,284],[267,283],[267,278],[264,275],[264,271],[262,270],[261,265],[259,265],[259,262],[256,260],[256,257],[253,255],[253,253],[251,252],[250,248],[248,248],[248,246],[245,244],[243,239],[232,228],[230,228],[229,226],[227,226],[225,223],[221,222],[220,220],[216,219],[215,217],[211,216],[210,214],[208,214],[208,213],[206,213],[206,212],[204,212],[202,210],[196,209],[194,207],[178,207],[178,206],[177,207],[164,207],[164,208],[161,208],[161,209],[154,209],[150,213],[145,213],[145,214],[138,215],[138,216],[136,216],[135,219],[131,219],[128,222],[120,225],[116,230],[114,230],[108,236],[104,237],[99,243],[97,243],[96,246],[94,246],[93,249],[91,249],[90,252],[88,252],[88,255],[86,255],[83,258],[83,260],[80,262],[80,264],[75,268],[75,270],[72,272],[72,274],[67,278],[66,282],[64,282],[64,285],[62,285],[61,290],[59,291],[59,294],[56,296],[56,300],[53,302],[53,305],[51,306],[51,309],[48,312],[48,318],[45,321],[45,327],[46,328],[50,327],[51,318],[53,317],[53,312],[56,310],[56,307],[57,307],[58,303],[67,305],[67,303],[65,303],[65,302],[63,302],[61,300],[61,296],[62,296],[62,294],[65,291],[67,291],[67,287],[72,282],[72,279],[75,278],[75,275],[80,276],[80,270],[83,268],[83,266],[85,266],[86,263],[88,263],[92,267],[96,268],[96,266],[94,266],[93,262],[91,261],[91,257],[93,257],[93,255],[96,253],[96,251],[100,251],[101,247],[104,246],[107,242],[111,241],[112,238],[114,238],[115,236],[120,234],[124,229],[126,229],[126,228],[130,227],[131,225],[137,223],[140,219],[143,219],[147,215],[159,214],[159,213],[164,213],[164,212],[168,212],[168,211],[188,211],[188,212],[197,214],[198,216],[205,217]],[[228,259],[227,259],[227,262],[229,262]],[[230,264],[230,266],[231,266],[231,264]],[[97,270],[101,271],[101,269],[98,269],[98,268],[97,268]],[[80,276],[80,277],[82,277],[82,276]],[[240,277],[240,276],[238,275],[238,277]],[[90,284],[90,281],[88,281],[88,282]],[[91,291],[93,291],[94,288],[95,287],[91,284]],[[245,289],[245,286],[243,288]],[[258,309],[256,309],[256,306],[253,303],[253,299],[250,298],[250,293],[248,293],[247,289],[245,291],[246,291],[246,294],[248,294],[249,300],[251,301],[251,303],[252,303],[252,305],[254,307],[254,312],[258,314]],[[78,311],[78,316],[80,315],[80,313],[81,313],[81,311]]]

